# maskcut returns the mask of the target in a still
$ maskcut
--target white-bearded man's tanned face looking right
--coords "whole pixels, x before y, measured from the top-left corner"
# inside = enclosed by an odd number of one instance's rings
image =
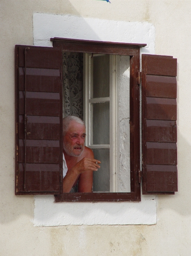
[[[68,131],[63,137],[63,149],[67,155],[78,157],[84,150],[86,128],[84,125],[71,121]]]

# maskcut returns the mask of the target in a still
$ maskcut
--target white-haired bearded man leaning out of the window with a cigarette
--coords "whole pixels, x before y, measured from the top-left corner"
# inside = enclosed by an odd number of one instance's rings
[[[92,149],[84,146],[86,126],[76,116],[63,118],[63,193],[92,192],[93,171],[101,162],[94,159]]]

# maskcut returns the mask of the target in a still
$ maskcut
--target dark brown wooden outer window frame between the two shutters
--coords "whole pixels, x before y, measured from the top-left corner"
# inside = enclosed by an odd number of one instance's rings
[[[53,47],[65,52],[130,56],[130,178],[131,192],[63,193],[55,202],[141,201],[140,189],[140,47],[146,44],[51,38]]]

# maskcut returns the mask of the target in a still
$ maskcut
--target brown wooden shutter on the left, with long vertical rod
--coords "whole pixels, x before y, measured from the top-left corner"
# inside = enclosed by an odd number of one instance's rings
[[[62,52],[15,46],[16,195],[62,193]]]

